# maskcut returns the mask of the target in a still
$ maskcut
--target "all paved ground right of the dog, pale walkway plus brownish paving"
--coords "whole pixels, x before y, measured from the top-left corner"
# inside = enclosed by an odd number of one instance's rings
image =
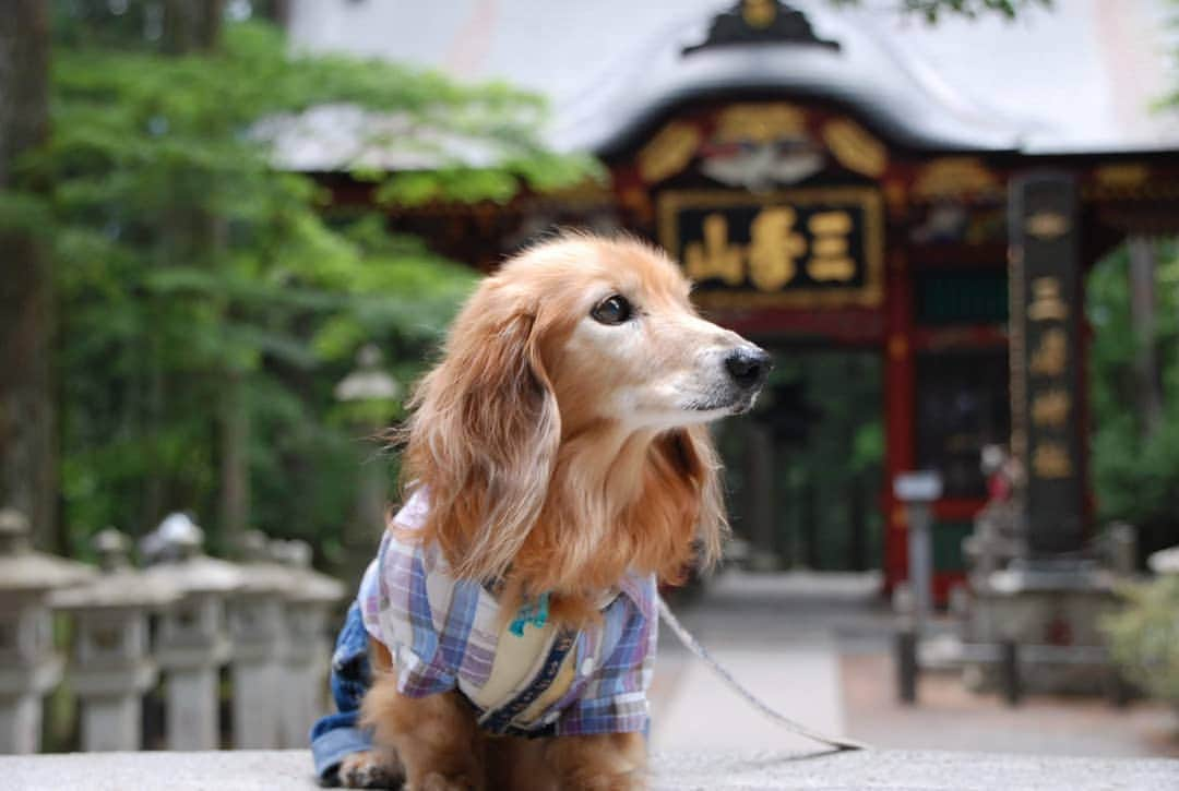
[[[896,701],[893,617],[874,575],[726,572],[696,602],[673,604],[732,672],[786,716],[881,747],[1054,756],[1179,757],[1179,716],[1135,703],[1030,696],[1010,708],[924,674],[920,705]],[[664,631],[652,688],[657,750],[809,750],[735,697]],[[1177,786],[1179,787],[1179,786]]]

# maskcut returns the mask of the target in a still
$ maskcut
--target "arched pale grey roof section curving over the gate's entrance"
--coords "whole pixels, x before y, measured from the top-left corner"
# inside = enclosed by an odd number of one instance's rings
[[[802,17],[786,5],[778,14]],[[862,17],[812,8],[805,18],[814,38],[796,26],[777,38],[753,31],[745,40],[730,35],[716,41],[719,24],[732,29],[735,15],[739,18],[730,11],[711,25],[707,18],[684,25],[643,47],[561,108],[554,145],[608,156],[680,103],[742,91],[843,104],[880,134],[916,149],[1015,150],[1029,131],[1027,124],[1000,120],[967,101],[863,25]]]

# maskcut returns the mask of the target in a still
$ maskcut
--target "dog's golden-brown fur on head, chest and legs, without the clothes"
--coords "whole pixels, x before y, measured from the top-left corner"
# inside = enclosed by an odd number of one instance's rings
[[[591,323],[610,294],[645,323]],[[678,581],[711,563],[726,523],[703,422],[719,413],[697,380],[713,364],[702,349],[740,343],[696,316],[678,268],[637,240],[565,236],[513,258],[467,302],[411,400],[402,480],[430,502],[415,540],[436,542],[457,576],[503,580],[505,613],[548,592],[552,618],[573,626],[599,617],[627,569]],[[363,720],[411,789],[643,784],[638,734],[492,740],[456,696],[407,698],[376,674]]]

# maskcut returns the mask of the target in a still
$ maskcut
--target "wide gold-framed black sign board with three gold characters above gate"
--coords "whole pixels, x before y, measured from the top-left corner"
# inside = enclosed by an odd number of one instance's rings
[[[877,306],[880,193],[864,187],[659,196],[663,245],[712,308]]]

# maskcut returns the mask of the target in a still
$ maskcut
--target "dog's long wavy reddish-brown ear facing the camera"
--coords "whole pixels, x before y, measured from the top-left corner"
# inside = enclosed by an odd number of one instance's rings
[[[410,403],[402,477],[424,487],[424,538],[465,579],[502,576],[545,503],[561,428],[538,311],[485,284]]]

